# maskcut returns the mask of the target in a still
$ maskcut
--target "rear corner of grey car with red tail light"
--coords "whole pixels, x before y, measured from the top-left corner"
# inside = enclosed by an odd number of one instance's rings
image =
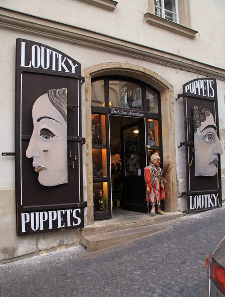
[[[225,297],[225,237],[213,252],[205,255],[203,266],[208,277],[200,297]]]

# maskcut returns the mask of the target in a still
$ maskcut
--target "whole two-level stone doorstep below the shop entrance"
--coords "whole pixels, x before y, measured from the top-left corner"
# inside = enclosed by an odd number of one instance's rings
[[[182,212],[159,214],[140,214],[96,221],[82,229],[81,244],[88,251],[95,251],[131,241],[167,228],[166,222],[183,217]]]

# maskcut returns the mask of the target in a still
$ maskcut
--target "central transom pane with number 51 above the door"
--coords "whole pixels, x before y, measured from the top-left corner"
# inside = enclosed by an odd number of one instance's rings
[[[142,110],[141,86],[126,81],[109,81],[109,106]]]

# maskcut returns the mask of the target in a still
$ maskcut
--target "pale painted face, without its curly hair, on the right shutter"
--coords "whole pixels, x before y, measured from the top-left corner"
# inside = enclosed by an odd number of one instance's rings
[[[217,174],[219,154],[223,153],[212,113],[206,116],[194,133],[195,176]]]

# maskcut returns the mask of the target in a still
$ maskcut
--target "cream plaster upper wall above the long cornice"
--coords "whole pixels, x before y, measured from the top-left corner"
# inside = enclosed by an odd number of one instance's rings
[[[189,0],[191,27],[199,31],[193,40],[147,24],[144,14],[149,10],[149,0],[118,1],[114,11],[79,0],[1,0],[0,4],[2,7],[225,67],[224,0]]]

